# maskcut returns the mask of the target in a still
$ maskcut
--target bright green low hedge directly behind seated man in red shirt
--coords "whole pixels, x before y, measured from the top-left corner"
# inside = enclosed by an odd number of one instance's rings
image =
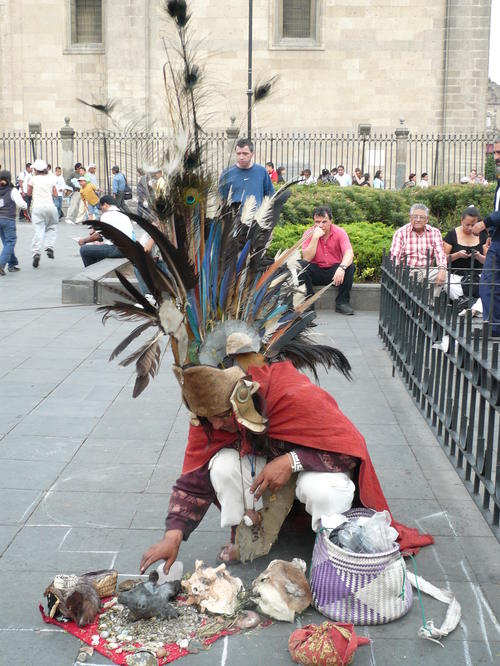
[[[310,226],[310,224],[285,224],[276,227],[269,254],[274,256],[278,250],[292,247]],[[391,246],[394,228],[382,222],[353,222],[339,226],[347,231],[354,250],[356,282],[380,280],[382,254]]]

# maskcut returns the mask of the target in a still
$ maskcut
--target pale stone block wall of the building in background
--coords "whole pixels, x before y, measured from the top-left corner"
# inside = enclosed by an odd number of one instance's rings
[[[279,74],[253,116],[256,130],[482,131],[489,0],[320,0],[319,46],[273,46],[275,0],[254,0],[254,80]],[[0,129],[38,121],[77,129],[106,120],[77,98],[121,100],[126,120],[168,125],[158,0],[103,0],[102,52],[68,51],[71,0],[0,0]],[[248,3],[192,0],[193,43],[206,70],[206,124],[245,125]],[[236,17],[236,18],[234,18]]]

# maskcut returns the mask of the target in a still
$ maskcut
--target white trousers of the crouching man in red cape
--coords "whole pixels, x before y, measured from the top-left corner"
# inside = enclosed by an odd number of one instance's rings
[[[266,465],[262,456],[244,456],[240,462],[238,451],[221,449],[210,460],[210,480],[221,505],[221,527],[239,525],[246,509],[260,508],[254,507],[249,493],[254,460],[257,477]],[[299,472],[295,496],[305,504],[317,532],[322,515],[344,513],[351,508],[354,491],[354,483],[343,472]]]

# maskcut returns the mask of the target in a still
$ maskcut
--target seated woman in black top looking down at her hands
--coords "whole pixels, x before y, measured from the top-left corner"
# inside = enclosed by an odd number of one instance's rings
[[[460,226],[450,229],[444,238],[444,251],[451,260],[450,271],[461,276],[464,294],[474,298],[479,298],[480,271],[486,259],[486,232],[479,236],[472,233],[479,218],[478,209],[469,206],[462,213]]]

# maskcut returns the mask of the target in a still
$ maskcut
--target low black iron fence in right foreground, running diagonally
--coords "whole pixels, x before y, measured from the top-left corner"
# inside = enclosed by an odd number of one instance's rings
[[[389,257],[381,286],[379,335],[394,368],[500,538],[499,344],[490,324],[476,326],[470,310],[459,316],[458,301],[434,298],[428,279]]]

